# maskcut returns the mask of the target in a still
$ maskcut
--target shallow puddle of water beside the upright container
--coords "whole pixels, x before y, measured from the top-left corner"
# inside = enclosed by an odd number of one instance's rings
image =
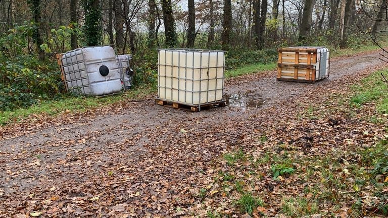
[[[248,108],[257,108],[264,104],[264,98],[252,90],[246,92],[237,92],[235,94],[225,94],[226,104],[234,107],[240,107],[243,111]]]

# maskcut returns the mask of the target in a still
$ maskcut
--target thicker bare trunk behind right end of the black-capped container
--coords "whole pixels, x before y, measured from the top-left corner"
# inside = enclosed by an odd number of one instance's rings
[[[124,48],[124,10],[122,0],[114,0],[115,9],[115,32],[116,32],[116,47],[117,50]]]

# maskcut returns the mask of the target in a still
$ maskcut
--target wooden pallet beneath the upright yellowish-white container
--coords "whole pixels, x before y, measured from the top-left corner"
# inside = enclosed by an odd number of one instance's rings
[[[209,110],[214,107],[222,107],[226,105],[225,100],[214,101],[214,102],[205,103],[205,104],[185,104],[181,102],[174,102],[174,101],[169,101],[169,100],[160,99],[160,98],[155,98],[155,103],[159,105],[172,107],[172,108],[184,110],[184,111],[191,111],[191,112],[200,112],[202,110]]]

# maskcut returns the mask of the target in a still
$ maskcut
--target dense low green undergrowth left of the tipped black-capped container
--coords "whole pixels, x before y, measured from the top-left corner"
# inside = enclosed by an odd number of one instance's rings
[[[28,107],[61,92],[61,73],[53,63],[40,62],[34,56],[3,58],[0,61],[0,111]]]

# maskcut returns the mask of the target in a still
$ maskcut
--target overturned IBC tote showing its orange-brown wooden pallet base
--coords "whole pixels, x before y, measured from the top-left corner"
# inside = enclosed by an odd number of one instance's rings
[[[279,48],[276,80],[315,83],[329,77],[330,52],[325,47]]]

